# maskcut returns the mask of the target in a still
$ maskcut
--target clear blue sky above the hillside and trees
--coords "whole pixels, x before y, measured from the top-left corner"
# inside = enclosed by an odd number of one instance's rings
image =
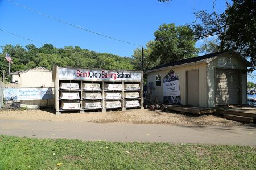
[[[80,46],[83,49],[127,57],[131,57],[138,46],[57,22],[10,1],[78,27],[143,46],[154,40],[154,32],[163,23],[185,25],[195,20],[194,12],[213,11],[213,0],[172,0],[169,3],[157,0],[0,0],[0,29],[26,37],[22,39],[0,31],[0,46],[35,44],[40,47],[41,43],[48,43],[57,48]],[[225,0],[216,0],[217,12],[223,12],[225,8]],[[196,46],[200,45],[201,42],[196,43]]]

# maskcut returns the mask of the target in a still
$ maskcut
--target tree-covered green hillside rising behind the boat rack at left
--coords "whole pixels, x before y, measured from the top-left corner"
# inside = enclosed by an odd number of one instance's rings
[[[13,60],[11,73],[36,66],[52,70],[54,65],[100,69],[134,69],[130,57],[93,52],[88,49],[81,49],[79,46],[56,48],[51,44],[44,44],[37,48],[35,45],[29,44],[26,45],[26,48],[23,48],[20,45],[5,45],[2,47],[2,53],[0,53],[1,76],[3,70],[6,74],[8,72],[9,62],[5,59],[6,52]]]

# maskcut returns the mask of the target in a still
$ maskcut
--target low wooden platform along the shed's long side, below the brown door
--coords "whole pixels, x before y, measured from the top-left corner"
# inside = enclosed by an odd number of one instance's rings
[[[216,108],[204,108],[190,105],[167,105],[167,109],[172,111],[180,111],[194,114],[207,114],[216,112]]]

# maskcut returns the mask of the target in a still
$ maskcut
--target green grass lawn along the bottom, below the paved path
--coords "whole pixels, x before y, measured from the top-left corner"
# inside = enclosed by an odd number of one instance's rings
[[[0,135],[0,169],[256,169],[256,148]]]

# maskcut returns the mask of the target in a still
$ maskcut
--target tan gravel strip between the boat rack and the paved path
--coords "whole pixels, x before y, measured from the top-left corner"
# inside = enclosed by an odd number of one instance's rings
[[[0,111],[0,119],[45,120],[62,122],[126,122],[134,124],[168,124],[168,125],[243,125],[240,122],[226,120],[214,115],[194,115],[174,112],[149,111],[148,109],[131,109],[127,111],[63,113],[56,116],[54,111],[25,110]]]

